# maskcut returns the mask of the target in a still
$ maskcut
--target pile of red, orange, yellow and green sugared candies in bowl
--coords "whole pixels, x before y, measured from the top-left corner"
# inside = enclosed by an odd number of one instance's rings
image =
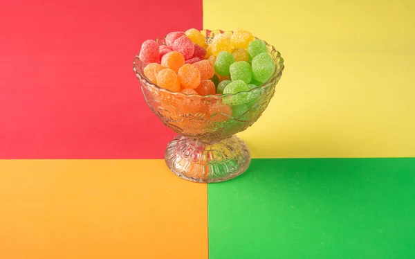
[[[232,36],[215,35],[212,44],[194,28],[169,33],[165,45],[142,43],[145,76],[170,91],[201,96],[234,94],[260,86],[274,73],[266,44],[238,28]]]

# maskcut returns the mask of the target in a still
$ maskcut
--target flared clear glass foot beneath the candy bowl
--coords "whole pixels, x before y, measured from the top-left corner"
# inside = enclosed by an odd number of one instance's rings
[[[250,152],[237,136],[210,143],[176,136],[167,145],[165,162],[178,177],[199,183],[217,183],[245,172],[250,164]]]

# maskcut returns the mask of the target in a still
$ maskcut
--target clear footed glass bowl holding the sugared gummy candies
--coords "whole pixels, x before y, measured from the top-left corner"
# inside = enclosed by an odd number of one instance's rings
[[[202,30],[206,43],[214,35],[230,31]],[[165,37],[156,39],[165,44]],[[234,134],[254,124],[268,106],[275,85],[284,70],[280,53],[266,44],[275,62],[271,78],[250,91],[221,96],[187,96],[162,89],[145,75],[138,55],[133,70],[141,82],[142,93],[152,111],[170,129],[177,132],[167,145],[165,162],[174,174],[189,181],[214,183],[241,175],[250,164],[247,145]]]

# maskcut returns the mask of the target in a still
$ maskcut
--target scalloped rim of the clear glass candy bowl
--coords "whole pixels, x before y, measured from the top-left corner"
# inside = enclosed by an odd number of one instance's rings
[[[233,33],[232,30],[226,31],[226,30],[208,30],[208,29],[204,29],[204,30],[201,30],[201,31],[221,32],[221,34]],[[259,39],[259,38],[255,37],[255,39]],[[271,51],[270,51],[271,53],[275,53],[275,52],[279,53],[279,51],[277,51],[273,45],[268,44],[268,42],[266,42],[264,39],[261,39],[261,40],[266,44],[267,50],[268,50],[268,47],[271,48]],[[268,54],[270,53],[269,51],[267,51],[267,52],[268,52]],[[284,71],[284,67],[285,67],[284,66],[284,59],[282,58],[281,53],[279,53],[279,57],[281,57],[281,60],[282,60],[282,62],[279,63],[280,66],[281,66],[281,69],[278,69],[277,64],[273,60],[273,62],[275,64],[275,69],[274,69],[273,75],[271,75],[271,77],[268,80],[266,80],[266,82],[263,82],[258,87],[252,88],[248,91],[240,91],[238,93],[226,93],[226,94],[220,94],[220,95],[210,94],[208,96],[201,96],[199,94],[185,94],[185,93],[182,93],[181,91],[171,91],[169,89],[159,87],[157,84],[154,84],[154,82],[151,82],[151,80],[149,80],[149,78],[147,78],[147,76],[144,75],[145,63],[140,60],[140,58],[138,57],[138,54],[136,55],[136,57],[134,58],[134,61],[133,61],[133,71],[134,71],[134,73],[136,73],[136,76],[138,76],[138,78],[140,78],[140,80],[144,80],[146,82],[146,84],[150,85],[151,87],[153,87],[157,91],[161,91],[161,92],[165,92],[165,93],[171,93],[174,96],[198,97],[198,98],[225,98],[225,97],[230,97],[230,96],[239,96],[239,95],[242,95],[242,94],[250,93],[252,91],[258,91],[258,89],[264,89],[264,88],[268,87],[268,84],[272,80],[274,80],[274,78],[279,77],[279,75],[282,74],[282,71]],[[273,57],[271,57],[271,58],[273,58]],[[141,67],[141,69],[140,69],[140,67]]]

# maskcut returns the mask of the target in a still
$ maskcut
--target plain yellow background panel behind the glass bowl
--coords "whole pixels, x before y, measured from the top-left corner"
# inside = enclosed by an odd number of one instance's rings
[[[415,1],[204,0],[203,26],[284,57],[252,157],[415,157]]]

